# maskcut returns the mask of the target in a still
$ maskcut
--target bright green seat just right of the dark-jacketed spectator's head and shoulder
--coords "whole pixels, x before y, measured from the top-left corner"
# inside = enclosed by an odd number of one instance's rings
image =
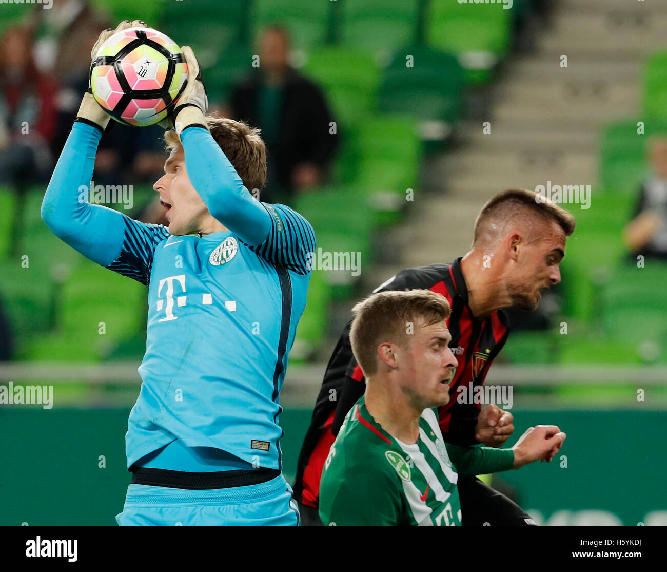
[[[380,69],[368,53],[348,48],[323,48],[309,53],[303,72],[325,92],[334,117],[355,125],[375,107]]]

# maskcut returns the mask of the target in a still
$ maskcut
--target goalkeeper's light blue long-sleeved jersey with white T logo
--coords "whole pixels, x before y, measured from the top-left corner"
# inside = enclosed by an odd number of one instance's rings
[[[42,217],[87,258],[148,286],[127,466],[179,439],[281,469],[279,392],[305,307],[313,229],[288,207],[252,198],[202,127],[182,133],[185,165],[209,212],[229,231],[172,236],[164,226],[79,203],[100,134],[75,123]]]

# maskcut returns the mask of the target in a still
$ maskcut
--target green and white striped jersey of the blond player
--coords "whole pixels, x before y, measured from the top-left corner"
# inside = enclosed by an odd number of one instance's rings
[[[417,443],[406,445],[374,420],[364,397],[356,402],[324,464],[325,525],[460,525],[458,475],[514,464],[511,449],[445,445],[435,410],[424,410],[419,426]]]

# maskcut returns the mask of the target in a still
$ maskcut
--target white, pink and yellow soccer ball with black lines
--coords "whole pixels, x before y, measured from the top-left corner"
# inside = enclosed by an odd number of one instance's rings
[[[90,68],[95,101],[116,121],[137,127],[167,117],[186,83],[181,48],[151,28],[113,34],[97,50]]]

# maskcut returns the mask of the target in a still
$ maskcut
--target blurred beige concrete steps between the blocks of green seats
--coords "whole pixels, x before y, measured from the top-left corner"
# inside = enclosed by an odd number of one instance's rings
[[[600,25],[600,14],[606,11],[601,7],[599,13],[584,13],[582,18],[590,25]],[[548,180],[553,184],[596,184],[599,133],[619,116],[638,114],[640,56],[646,55],[646,50],[640,53],[636,45],[628,43],[619,64],[622,33],[614,39],[612,51],[596,53],[589,47],[598,45],[598,35],[608,33],[606,28],[582,34],[578,20],[563,7],[554,11],[552,21],[552,29],[538,38],[536,51],[510,58],[504,77],[494,86],[488,119],[491,134],[482,133],[481,121],[463,123],[462,144],[440,162],[440,188],[415,204],[411,232],[426,243],[421,252],[418,248],[403,249],[404,266],[423,264],[430,256],[425,253],[439,253],[427,260],[433,262],[467,252],[477,212],[499,190],[535,188]],[[572,57],[574,45],[585,59]],[[655,45],[653,41],[651,48]],[[558,67],[560,53],[568,54],[568,69]],[[573,81],[580,93],[564,97],[566,90],[572,90]],[[602,91],[596,92],[598,84],[602,84]],[[602,94],[608,97],[601,100]],[[429,234],[433,228],[448,232]]]

